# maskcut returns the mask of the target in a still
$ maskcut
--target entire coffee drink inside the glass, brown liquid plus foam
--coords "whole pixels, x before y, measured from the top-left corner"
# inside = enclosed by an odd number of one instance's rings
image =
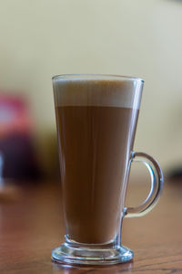
[[[129,81],[60,83],[55,98],[66,235],[106,243],[118,233],[125,203],[140,96]]]

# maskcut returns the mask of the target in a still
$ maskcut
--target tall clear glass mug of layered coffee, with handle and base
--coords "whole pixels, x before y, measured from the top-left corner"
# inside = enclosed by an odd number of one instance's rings
[[[115,75],[53,78],[66,241],[53,249],[56,262],[108,265],[126,262],[133,251],[121,245],[124,217],[143,216],[163,187],[154,158],[133,152],[144,81]],[[126,207],[132,162],[151,177],[147,199]]]

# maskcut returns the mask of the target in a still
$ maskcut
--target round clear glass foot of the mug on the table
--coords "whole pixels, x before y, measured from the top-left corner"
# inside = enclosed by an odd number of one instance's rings
[[[52,251],[54,261],[79,265],[114,265],[127,262],[133,257],[133,251],[123,246],[117,248],[78,248],[64,243]]]

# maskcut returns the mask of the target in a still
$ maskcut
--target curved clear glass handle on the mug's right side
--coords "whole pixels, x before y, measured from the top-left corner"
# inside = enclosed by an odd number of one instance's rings
[[[164,176],[157,161],[147,153],[132,153],[131,161],[144,163],[147,166],[151,178],[151,188],[147,199],[141,205],[125,207],[125,216],[144,216],[157,205],[164,184]]]

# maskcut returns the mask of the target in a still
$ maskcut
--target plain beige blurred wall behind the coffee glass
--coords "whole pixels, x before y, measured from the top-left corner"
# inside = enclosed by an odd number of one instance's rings
[[[41,143],[56,131],[53,75],[141,77],[146,85],[135,149],[163,167],[182,163],[181,26],[179,1],[2,0],[0,89],[23,90]]]

